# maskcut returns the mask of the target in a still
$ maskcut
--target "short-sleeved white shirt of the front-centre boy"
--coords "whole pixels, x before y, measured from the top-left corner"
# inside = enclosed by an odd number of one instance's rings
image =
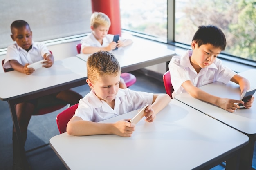
[[[75,115],[83,120],[99,122],[111,117],[128,113],[152,104],[153,93],[137,92],[130,89],[119,89],[115,97],[115,106],[112,109],[105,101],[100,100],[91,90],[80,99]]]

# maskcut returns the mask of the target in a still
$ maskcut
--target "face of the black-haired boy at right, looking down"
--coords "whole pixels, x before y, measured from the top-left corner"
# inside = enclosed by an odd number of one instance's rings
[[[196,68],[205,68],[211,65],[220,54],[221,49],[211,44],[203,44],[198,47],[198,44],[195,41],[192,41],[191,47],[193,53],[191,56],[191,65]]]

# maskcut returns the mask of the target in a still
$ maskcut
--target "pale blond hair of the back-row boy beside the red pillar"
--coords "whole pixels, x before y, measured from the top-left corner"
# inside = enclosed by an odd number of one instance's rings
[[[94,12],[91,16],[91,26],[94,28],[97,28],[98,26],[107,26],[110,27],[110,19],[108,18],[108,15],[102,12]]]

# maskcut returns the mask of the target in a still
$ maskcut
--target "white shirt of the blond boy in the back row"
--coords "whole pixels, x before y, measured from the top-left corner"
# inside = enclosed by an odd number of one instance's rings
[[[114,35],[107,34],[106,37],[103,38],[103,43],[99,43],[99,41],[94,37],[92,33],[88,34],[85,38],[81,40],[81,50],[85,46],[94,46],[94,47],[106,47],[110,42],[113,41]],[[119,40],[123,41],[121,37],[119,37]],[[80,51],[81,52],[81,51]]]

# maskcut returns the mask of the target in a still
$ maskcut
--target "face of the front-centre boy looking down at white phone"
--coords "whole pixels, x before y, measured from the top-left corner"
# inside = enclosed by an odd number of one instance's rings
[[[99,77],[94,83],[87,79],[87,83],[100,100],[110,104],[115,99],[119,90],[120,75],[121,73],[117,76],[106,75],[105,77]]]

